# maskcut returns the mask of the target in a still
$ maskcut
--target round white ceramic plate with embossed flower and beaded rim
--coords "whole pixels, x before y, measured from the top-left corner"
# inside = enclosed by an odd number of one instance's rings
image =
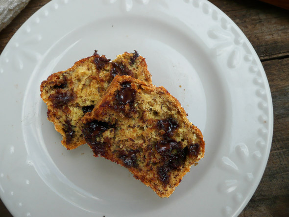
[[[170,198],[124,168],[68,151],[39,86],[97,49],[146,58],[155,85],[203,132],[205,157]],[[237,216],[256,190],[273,129],[261,62],[241,30],[205,0],[52,0],[0,56],[0,196],[16,216]]]

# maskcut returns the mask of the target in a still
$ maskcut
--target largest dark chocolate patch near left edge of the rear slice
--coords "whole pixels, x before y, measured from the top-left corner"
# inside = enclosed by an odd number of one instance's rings
[[[70,91],[63,92],[62,89],[57,89],[54,94],[48,96],[48,99],[52,101],[55,108],[61,108],[72,101],[74,96]]]

